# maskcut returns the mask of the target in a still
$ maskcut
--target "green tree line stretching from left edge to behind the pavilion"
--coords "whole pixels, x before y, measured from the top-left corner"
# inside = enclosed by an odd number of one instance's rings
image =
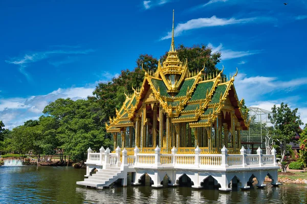
[[[221,53],[212,53],[206,45],[185,47],[179,45],[178,56],[182,62],[188,61],[190,71],[201,70],[205,64],[205,73],[220,71],[216,64]],[[167,53],[161,56],[166,59]],[[23,125],[9,131],[0,123],[0,150],[20,155],[30,152],[40,155],[52,155],[55,150],[61,160],[69,156],[73,160],[85,160],[91,147],[98,151],[101,146],[113,149],[113,138],[105,131],[105,122],[116,115],[125,100],[124,92],[132,93],[133,87],[140,87],[145,70],[156,71],[158,59],[150,55],[140,55],[133,71],[122,70],[117,78],[106,83],[99,83],[93,96],[87,99],[72,100],[59,98],[45,107],[38,120],[25,121]],[[0,118],[1,119],[1,118]]]

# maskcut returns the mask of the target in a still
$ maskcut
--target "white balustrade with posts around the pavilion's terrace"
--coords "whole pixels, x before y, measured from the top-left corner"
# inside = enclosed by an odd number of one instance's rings
[[[274,149],[275,150],[275,149]],[[255,167],[255,166],[275,166],[275,151],[273,155],[262,155],[261,149],[258,148],[257,155],[246,154],[246,149],[240,149],[240,155],[228,155],[227,149],[222,149],[222,154],[200,154],[199,148],[195,148],[195,154],[177,154],[177,149],[172,148],[172,154],[160,154],[160,148],[155,149],[155,154],[140,154],[139,149],[134,149],[133,156],[127,156],[127,151],[124,149],[122,152],[124,161],[123,165],[126,166],[146,166],[156,165],[157,168],[167,167],[180,167],[184,168],[205,168],[205,166],[215,166],[215,168],[227,169],[229,167]],[[100,148],[99,153],[92,152],[92,149],[87,150],[87,163],[103,165],[104,168],[110,165],[121,166],[120,148],[117,148],[117,153],[110,154],[109,148]]]

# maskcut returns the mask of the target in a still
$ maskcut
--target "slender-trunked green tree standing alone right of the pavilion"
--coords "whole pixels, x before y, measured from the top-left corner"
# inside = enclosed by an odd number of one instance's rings
[[[272,108],[272,114],[269,114],[268,118],[274,125],[274,139],[279,142],[281,157],[282,172],[286,172],[286,150],[287,144],[294,141],[296,133],[300,131],[299,126],[302,125],[300,116],[297,115],[297,108],[291,110],[288,104],[281,103],[280,107]]]

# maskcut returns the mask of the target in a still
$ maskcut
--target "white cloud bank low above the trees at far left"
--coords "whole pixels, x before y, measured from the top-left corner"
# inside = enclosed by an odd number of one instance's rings
[[[46,95],[36,95],[25,98],[0,99],[0,120],[3,120],[7,128],[23,124],[29,119],[38,119],[43,109],[58,98],[71,98],[73,100],[85,99],[92,95],[95,86],[71,87],[57,89]]]

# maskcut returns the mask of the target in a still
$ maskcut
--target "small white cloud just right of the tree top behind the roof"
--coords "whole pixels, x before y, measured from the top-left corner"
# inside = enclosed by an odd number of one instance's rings
[[[231,49],[225,49],[223,44],[220,43],[218,47],[214,47],[211,43],[208,43],[208,46],[212,48],[212,52],[221,52],[221,60],[229,60],[234,58],[246,57],[250,55],[255,55],[261,53],[261,50],[248,50],[248,51],[234,51]]]

